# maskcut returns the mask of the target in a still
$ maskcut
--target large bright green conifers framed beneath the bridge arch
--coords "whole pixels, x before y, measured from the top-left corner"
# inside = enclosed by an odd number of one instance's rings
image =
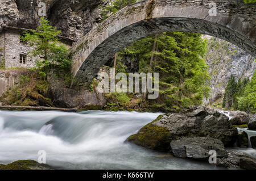
[[[165,32],[138,40],[118,53],[118,64],[126,58],[139,60],[140,72],[157,72],[160,97],[150,105],[179,111],[201,104],[209,96],[208,66],[203,57],[207,41],[197,33]],[[122,69],[125,66],[120,66]],[[117,72],[118,66],[116,67]]]

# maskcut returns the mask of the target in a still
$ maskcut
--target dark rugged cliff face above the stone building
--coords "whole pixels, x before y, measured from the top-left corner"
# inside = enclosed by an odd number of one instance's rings
[[[102,0],[0,0],[0,31],[3,26],[38,27],[39,2],[46,3],[46,17],[50,23],[70,39],[79,39],[101,19],[99,5]]]

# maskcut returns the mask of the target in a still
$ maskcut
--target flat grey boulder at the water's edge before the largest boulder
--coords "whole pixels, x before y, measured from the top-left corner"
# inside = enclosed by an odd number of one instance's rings
[[[220,140],[211,137],[184,137],[172,141],[171,150],[175,157],[181,158],[208,160],[210,150],[215,150],[217,157],[228,157],[224,144]]]

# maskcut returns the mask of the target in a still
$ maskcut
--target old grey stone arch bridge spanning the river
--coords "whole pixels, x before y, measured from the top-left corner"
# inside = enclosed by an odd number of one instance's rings
[[[213,7],[211,3],[217,5],[216,16],[209,14]],[[89,86],[115,52],[159,32],[196,32],[216,36],[255,57],[255,4],[245,4],[242,0],[144,0],[127,6],[72,47],[72,73],[75,76],[72,86]]]

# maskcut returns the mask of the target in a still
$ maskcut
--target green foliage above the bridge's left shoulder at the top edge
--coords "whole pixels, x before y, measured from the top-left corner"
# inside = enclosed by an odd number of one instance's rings
[[[123,7],[127,5],[131,5],[133,3],[137,2],[137,0],[114,0],[110,1],[108,5],[101,7],[101,17],[102,22],[109,18],[111,15],[115,14],[115,12],[123,9]]]

